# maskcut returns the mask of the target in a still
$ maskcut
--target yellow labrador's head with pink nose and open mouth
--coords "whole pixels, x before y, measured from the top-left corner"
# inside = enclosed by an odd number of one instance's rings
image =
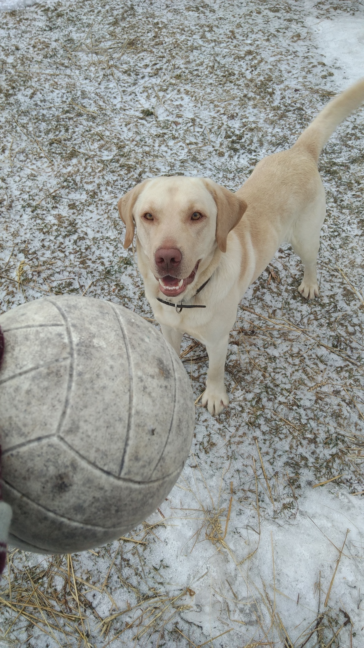
[[[226,251],[227,235],[247,205],[212,180],[185,176],[144,180],[118,203],[126,225],[124,248],[134,224],[159,290],[177,297],[209,265],[216,248]]]

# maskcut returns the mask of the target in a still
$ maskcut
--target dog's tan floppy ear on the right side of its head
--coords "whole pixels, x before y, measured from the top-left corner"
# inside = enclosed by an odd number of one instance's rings
[[[229,232],[238,224],[247,208],[247,203],[238,198],[229,189],[225,189],[216,182],[204,178],[205,187],[209,190],[216,202],[218,215],[216,218],[216,242],[222,252],[226,252],[226,240]]]

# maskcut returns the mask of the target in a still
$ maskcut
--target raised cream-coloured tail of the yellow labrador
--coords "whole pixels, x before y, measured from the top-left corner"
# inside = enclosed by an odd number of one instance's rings
[[[304,146],[317,162],[324,145],[337,126],[363,102],[364,78],[332,99],[304,130],[294,146]]]

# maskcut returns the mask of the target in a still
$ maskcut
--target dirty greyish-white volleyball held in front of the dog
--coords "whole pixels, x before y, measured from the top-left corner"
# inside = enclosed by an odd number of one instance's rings
[[[0,317],[9,544],[71,553],[115,540],[163,501],[194,430],[187,373],[135,313],[47,297]]]

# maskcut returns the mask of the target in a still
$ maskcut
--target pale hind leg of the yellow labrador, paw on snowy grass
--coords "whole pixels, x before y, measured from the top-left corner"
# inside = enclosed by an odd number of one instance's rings
[[[300,214],[293,224],[289,242],[296,254],[301,257],[304,265],[302,283],[299,292],[306,299],[314,299],[319,296],[319,284],[317,283],[317,253],[320,247],[320,233],[325,217],[325,196],[324,188],[320,181],[320,189],[313,203]]]

